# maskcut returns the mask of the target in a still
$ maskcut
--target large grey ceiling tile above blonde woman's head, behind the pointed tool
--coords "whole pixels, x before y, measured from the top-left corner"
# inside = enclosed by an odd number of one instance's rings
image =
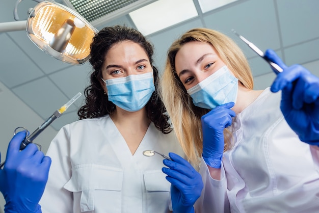
[[[255,56],[250,48],[234,35],[238,34],[254,43],[262,51],[267,48],[279,49],[279,33],[273,1],[250,0],[242,1],[233,6],[204,15],[207,28],[220,31],[236,41],[247,57]]]

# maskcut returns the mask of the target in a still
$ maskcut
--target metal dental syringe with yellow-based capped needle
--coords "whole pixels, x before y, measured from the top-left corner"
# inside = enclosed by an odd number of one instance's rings
[[[17,127],[14,130],[14,135],[16,134],[16,130],[19,128],[24,129],[24,131],[26,132],[25,138],[24,140],[21,142],[20,144],[20,150],[23,150],[28,144],[33,143],[33,140],[36,139],[40,133],[46,128],[48,127],[54,120],[56,120],[57,118],[59,118],[69,107],[70,105],[81,96],[81,92],[77,93],[73,98],[71,98],[66,104],[64,104],[59,110],[55,111],[44,123],[41,124],[41,126],[39,126],[34,132],[32,132],[31,135],[28,135],[29,131],[24,128],[24,127]],[[41,146],[39,144],[37,144],[40,147],[41,150]],[[5,162],[0,164],[0,169],[5,165]]]

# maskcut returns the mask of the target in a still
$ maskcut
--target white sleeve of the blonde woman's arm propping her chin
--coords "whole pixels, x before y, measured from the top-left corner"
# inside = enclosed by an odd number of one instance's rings
[[[199,173],[202,176],[204,188],[195,203],[195,212],[230,212],[227,198],[227,180],[223,163],[221,166],[221,180],[212,179],[208,167],[201,158]]]

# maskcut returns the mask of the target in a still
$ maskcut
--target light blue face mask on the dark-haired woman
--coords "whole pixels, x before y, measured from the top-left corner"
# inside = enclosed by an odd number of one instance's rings
[[[155,91],[153,72],[102,80],[107,85],[109,100],[129,112],[141,110]]]

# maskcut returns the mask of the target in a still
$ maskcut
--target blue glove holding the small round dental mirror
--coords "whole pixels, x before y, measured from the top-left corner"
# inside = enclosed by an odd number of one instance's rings
[[[174,213],[193,213],[195,201],[200,197],[203,189],[201,175],[179,155],[170,152],[170,158],[164,159],[166,167],[162,171],[167,174],[166,179],[171,183],[171,199]]]

